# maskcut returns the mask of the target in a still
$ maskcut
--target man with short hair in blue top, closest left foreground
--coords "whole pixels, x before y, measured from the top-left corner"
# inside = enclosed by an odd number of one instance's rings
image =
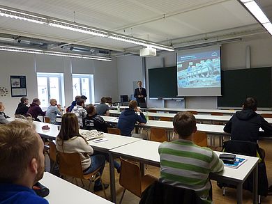
[[[31,123],[0,125],[0,203],[48,202],[32,187],[43,178],[43,141]]]

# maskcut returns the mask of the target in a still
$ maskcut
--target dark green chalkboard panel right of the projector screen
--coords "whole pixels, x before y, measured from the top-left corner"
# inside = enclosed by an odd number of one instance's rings
[[[255,97],[258,107],[272,107],[271,68],[222,71],[222,97],[218,107],[241,107],[246,97]]]

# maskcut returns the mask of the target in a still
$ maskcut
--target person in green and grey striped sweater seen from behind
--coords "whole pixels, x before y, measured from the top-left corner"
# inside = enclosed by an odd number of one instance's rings
[[[209,198],[209,173],[222,171],[224,164],[215,152],[192,142],[197,131],[195,116],[190,112],[174,116],[174,132],[179,140],[160,144],[160,182],[197,191],[197,195],[212,203]]]

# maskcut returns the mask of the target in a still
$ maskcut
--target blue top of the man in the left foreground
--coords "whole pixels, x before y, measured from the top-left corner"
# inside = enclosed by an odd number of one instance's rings
[[[0,184],[1,204],[48,204],[45,198],[37,196],[33,189],[20,185],[1,183]]]

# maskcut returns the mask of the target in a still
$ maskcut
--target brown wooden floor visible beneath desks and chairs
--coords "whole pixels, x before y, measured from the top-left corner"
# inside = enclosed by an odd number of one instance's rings
[[[264,148],[266,151],[266,171],[269,179],[269,185],[272,185],[272,140],[271,141],[260,141],[259,146]],[[47,160],[48,161],[48,160]],[[47,163],[48,164],[48,163]],[[153,176],[159,177],[160,169],[155,166],[147,166],[146,173],[151,174]],[[123,188],[119,185],[119,174],[115,171],[116,177],[116,201],[119,203],[121,194],[123,192]],[[66,180],[70,180],[66,178]],[[109,164],[107,163],[105,166],[105,170],[103,173],[103,182],[109,184]],[[80,185],[81,182],[78,182]],[[84,182],[85,187],[89,187],[89,183]],[[236,189],[227,188],[226,195],[222,196],[222,189],[220,189],[215,181],[212,181],[213,185],[213,203],[236,203]],[[104,197],[103,191],[99,191],[98,194],[101,197]],[[109,188],[106,190],[107,199],[110,197]],[[126,203],[139,203],[139,198],[134,194],[131,194],[129,191],[126,191],[125,196],[123,197],[123,204]],[[243,191],[243,203],[249,204],[252,203],[252,194],[250,191]],[[272,204],[272,196],[266,196],[261,198],[261,203],[271,203]]]

